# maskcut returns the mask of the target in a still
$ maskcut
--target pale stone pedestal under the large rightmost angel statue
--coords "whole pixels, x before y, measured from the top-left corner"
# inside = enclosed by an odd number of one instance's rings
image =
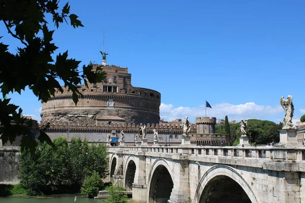
[[[280,143],[275,147],[303,147],[301,143],[297,142],[296,129],[282,129],[280,131]]]

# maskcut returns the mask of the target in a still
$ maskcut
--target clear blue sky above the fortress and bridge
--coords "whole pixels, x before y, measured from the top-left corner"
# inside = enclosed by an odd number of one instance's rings
[[[64,5],[66,1],[61,1]],[[62,24],[58,52],[87,64],[128,66],[132,84],[161,92],[165,120],[207,116],[282,121],[281,96],[293,96],[294,121],[305,114],[303,1],[70,1],[84,27]],[[53,27],[50,23],[50,27]],[[18,43],[0,22],[1,40]],[[57,53],[58,53],[57,52]],[[40,120],[31,91],[13,94]]]

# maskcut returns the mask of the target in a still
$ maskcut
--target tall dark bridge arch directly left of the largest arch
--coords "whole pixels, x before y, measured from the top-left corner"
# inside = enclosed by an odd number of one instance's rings
[[[174,187],[173,180],[172,170],[166,159],[156,159],[148,176],[147,202],[167,202]]]

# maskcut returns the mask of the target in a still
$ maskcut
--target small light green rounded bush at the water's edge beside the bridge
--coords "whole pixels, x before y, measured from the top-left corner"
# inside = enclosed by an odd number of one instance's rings
[[[91,176],[85,178],[80,192],[88,197],[94,197],[101,188],[103,188],[103,181],[97,172],[93,172]]]

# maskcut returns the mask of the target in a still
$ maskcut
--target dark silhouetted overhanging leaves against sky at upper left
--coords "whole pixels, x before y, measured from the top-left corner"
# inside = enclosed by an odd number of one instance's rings
[[[22,118],[22,110],[10,104],[6,99],[8,93],[18,92],[26,87],[31,89],[42,101],[46,102],[54,96],[55,90],[63,92],[59,81],[62,81],[72,92],[75,104],[81,95],[78,85],[84,81],[89,83],[101,82],[104,72],[92,72],[93,66],[83,65],[78,70],[81,61],[68,58],[68,51],[52,58],[58,48],[52,43],[54,30],[48,29],[46,15],[51,15],[53,23],[58,28],[64,21],[76,28],[83,27],[78,16],[70,14],[68,3],[59,10],[57,0],[0,0],[0,22],[13,38],[20,42],[16,54],[8,51],[8,46],[0,43],[0,91],[4,99],[0,99],[0,135],[3,144],[11,143],[17,136],[22,135],[21,151],[30,149],[32,153],[37,146],[36,139],[52,145],[45,132],[35,133],[31,121]],[[0,37],[1,38],[1,37]],[[6,39],[1,39],[6,40]],[[12,49],[14,50],[14,48]],[[87,81],[86,81],[86,80]],[[19,109],[18,109],[19,108]],[[18,110],[18,111],[17,111]]]

